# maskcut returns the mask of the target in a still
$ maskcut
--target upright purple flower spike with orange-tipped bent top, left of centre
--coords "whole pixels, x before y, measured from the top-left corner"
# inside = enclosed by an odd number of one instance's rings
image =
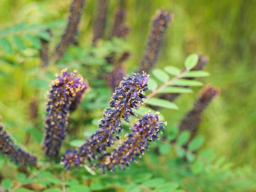
[[[58,155],[61,144],[65,139],[70,107],[72,104],[73,106],[77,105],[82,93],[88,89],[88,82],[82,77],[75,78],[75,74],[76,71],[70,74],[67,69],[63,69],[62,76],[58,76],[51,83],[43,143],[45,155],[50,158]]]

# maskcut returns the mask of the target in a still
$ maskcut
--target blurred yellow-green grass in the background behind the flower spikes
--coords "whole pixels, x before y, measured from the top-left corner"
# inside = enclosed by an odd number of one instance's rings
[[[69,0],[1,0],[0,27],[11,23],[48,22],[67,18]],[[95,1],[88,0],[80,26],[82,44],[92,40]],[[56,6],[58,5],[58,6]],[[110,0],[108,27],[110,31],[118,1]],[[204,113],[200,134],[207,138],[207,146],[236,164],[254,165],[256,158],[256,1],[251,0],[128,0],[127,23],[131,25],[127,44],[132,52],[127,62],[129,71],[136,69],[143,54],[149,23],[157,9],[174,13],[173,22],[165,36],[157,67],[182,67],[186,55],[199,52],[209,56],[205,70],[211,73],[202,79],[221,88],[221,95]],[[10,131],[19,140],[24,139],[21,127],[27,126],[28,103],[35,93],[27,85],[29,75],[23,69],[38,65],[31,58],[11,67],[3,65],[12,74],[13,81],[0,78],[0,113]],[[2,64],[1,64],[2,65]],[[196,94],[177,100],[179,111],[164,110],[169,122],[177,122],[193,105]],[[40,110],[43,111],[43,93]],[[18,128],[17,128],[18,127]],[[32,147],[29,147],[31,150]]]

